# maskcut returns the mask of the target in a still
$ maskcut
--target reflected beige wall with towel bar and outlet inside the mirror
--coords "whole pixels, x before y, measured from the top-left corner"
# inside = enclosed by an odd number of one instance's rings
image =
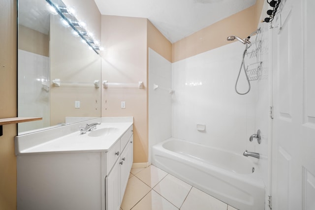
[[[65,117],[100,117],[101,85],[100,88],[93,85],[95,80],[101,83],[100,56],[81,37],[73,36],[70,27],[63,27],[56,15],[50,19],[50,44],[50,78],[62,81],[60,87],[51,82],[50,125],[64,123]],[[80,108],[75,108],[75,101],[80,101]]]

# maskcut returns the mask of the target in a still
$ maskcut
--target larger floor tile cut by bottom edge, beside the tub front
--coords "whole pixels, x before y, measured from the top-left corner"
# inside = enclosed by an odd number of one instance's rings
[[[227,204],[192,187],[181,210],[226,210]]]

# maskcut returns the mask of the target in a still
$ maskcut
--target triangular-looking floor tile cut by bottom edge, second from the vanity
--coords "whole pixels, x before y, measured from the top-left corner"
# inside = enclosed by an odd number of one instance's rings
[[[160,196],[156,191],[151,190],[131,210],[178,210],[173,204]]]

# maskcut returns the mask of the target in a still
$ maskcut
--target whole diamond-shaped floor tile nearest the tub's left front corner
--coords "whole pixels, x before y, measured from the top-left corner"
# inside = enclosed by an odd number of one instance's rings
[[[137,173],[135,176],[153,188],[166,175],[167,173],[165,171],[150,165],[146,169]]]

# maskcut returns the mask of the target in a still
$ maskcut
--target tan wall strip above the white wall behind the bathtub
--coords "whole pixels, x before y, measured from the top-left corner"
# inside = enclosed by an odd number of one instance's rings
[[[172,62],[228,44],[227,36],[247,37],[257,28],[261,2],[173,43]]]

